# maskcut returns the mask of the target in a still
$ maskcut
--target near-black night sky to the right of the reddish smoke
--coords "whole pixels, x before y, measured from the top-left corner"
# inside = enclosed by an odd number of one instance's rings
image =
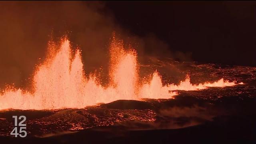
[[[133,34],[153,33],[192,60],[256,66],[256,2],[106,2]],[[161,50],[161,48],[159,48]]]

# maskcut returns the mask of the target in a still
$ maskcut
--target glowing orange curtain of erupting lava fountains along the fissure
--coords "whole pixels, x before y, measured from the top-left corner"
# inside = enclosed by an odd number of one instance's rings
[[[55,52],[59,49],[57,52]],[[163,86],[161,76],[154,72],[149,82],[138,82],[138,62],[135,50],[126,51],[122,42],[115,40],[110,45],[110,82],[102,86],[97,77],[85,76],[80,50],[71,59],[70,42],[62,40],[61,47],[49,46],[47,59],[37,67],[34,74],[33,92],[20,88],[6,88],[0,96],[2,109],[59,109],[84,108],[98,102],[115,100],[140,100],[141,98],[172,98],[173,90],[200,90],[207,87],[234,86],[235,82],[220,79],[217,82],[191,84],[186,78],[179,85]]]

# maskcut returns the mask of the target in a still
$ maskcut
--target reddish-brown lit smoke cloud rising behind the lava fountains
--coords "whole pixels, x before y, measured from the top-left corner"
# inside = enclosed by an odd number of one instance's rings
[[[139,61],[145,55],[188,60],[186,54],[172,54],[153,34],[142,38],[122,29],[104,2],[2,1],[0,20],[0,88],[11,83],[28,86],[36,64],[46,56],[48,40],[58,41],[63,35],[68,35],[73,48],[82,50],[87,74],[101,68],[103,74],[108,72],[113,32],[138,51]]]

